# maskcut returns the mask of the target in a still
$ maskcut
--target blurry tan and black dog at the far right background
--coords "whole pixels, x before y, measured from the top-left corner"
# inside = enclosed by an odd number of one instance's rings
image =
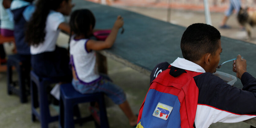
[[[248,11],[248,7],[240,8],[237,19],[239,24],[245,27],[249,40],[251,39],[252,27],[256,25],[256,11]]]

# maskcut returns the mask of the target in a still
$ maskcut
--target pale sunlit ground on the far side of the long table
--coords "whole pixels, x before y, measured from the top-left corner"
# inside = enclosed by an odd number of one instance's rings
[[[148,17],[167,21],[166,9],[131,6],[118,6],[118,8],[127,9],[136,13],[146,15]],[[242,27],[239,25],[235,14],[232,14],[227,20],[227,25],[231,27],[230,29],[219,28],[223,17],[224,13],[211,13],[212,26],[220,31],[221,36],[226,36],[237,40],[244,40],[256,44],[256,28],[252,29],[252,39],[248,40],[247,32],[243,30]],[[193,23],[205,23],[205,16],[204,12],[201,11],[171,9],[169,22],[172,24],[188,27]]]

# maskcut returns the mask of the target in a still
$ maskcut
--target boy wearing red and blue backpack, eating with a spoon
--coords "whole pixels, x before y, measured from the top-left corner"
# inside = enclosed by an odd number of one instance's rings
[[[215,122],[241,122],[256,117],[256,79],[237,56],[233,71],[243,89],[212,75],[222,52],[220,32],[207,24],[192,24],[182,35],[184,58],[159,63],[139,110],[137,128],[205,128]]]

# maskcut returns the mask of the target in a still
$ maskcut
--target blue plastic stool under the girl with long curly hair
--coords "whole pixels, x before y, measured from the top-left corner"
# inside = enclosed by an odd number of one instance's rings
[[[60,82],[60,80],[38,77],[33,71],[30,72],[30,79],[32,121],[34,122],[37,117],[41,122],[41,127],[48,128],[48,124],[50,122],[57,121],[59,119],[59,115],[53,117],[50,115],[46,88],[50,84]],[[40,108],[40,114],[36,111],[37,107]]]

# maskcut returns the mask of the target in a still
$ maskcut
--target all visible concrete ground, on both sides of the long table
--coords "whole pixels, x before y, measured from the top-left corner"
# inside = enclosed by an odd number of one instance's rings
[[[159,20],[166,21],[166,9],[151,9],[151,8],[137,8],[137,7],[121,7],[144,15],[157,18]],[[212,13],[212,24],[219,29],[220,21],[223,18],[223,13]],[[125,19],[124,19],[125,21]],[[189,26],[192,23],[204,23],[203,12],[193,12],[184,10],[171,10],[171,23],[181,26]],[[232,15],[228,21],[231,25],[231,29],[219,29],[222,36],[227,36],[239,40],[246,40],[246,32],[240,31],[236,18]],[[252,34],[253,39],[251,43],[256,41],[255,30]],[[67,46],[68,37],[64,34],[60,34],[58,44]],[[9,45],[5,45],[8,49]],[[138,113],[139,108],[144,100],[145,94],[149,87],[149,76],[145,76],[132,70],[129,67],[125,67],[122,64],[113,61],[108,58],[108,73],[113,79],[114,83],[119,85],[126,92],[126,96],[132,111]],[[109,102],[107,108],[109,125],[111,128],[130,128],[128,125],[128,119],[124,113],[118,108],[117,105]],[[82,115],[88,114],[88,104],[80,105]],[[51,109],[52,113],[56,113],[54,109]],[[39,128],[40,122],[31,121],[31,106],[30,99],[28,103],[21,104],[19,97],[16,95],[7,95],[6,89],[6,73],[0,73],[0,127],[1,128]],[[53,122],[49,125],[50,128],[58,127],[58,122]],[[81,127],[76,125],[76,127]],[[93,122],[84,123],[82,127],[94,127]],[[210,128],[249,128],[250,126],[244,122],[238,123],[215,123]]]

